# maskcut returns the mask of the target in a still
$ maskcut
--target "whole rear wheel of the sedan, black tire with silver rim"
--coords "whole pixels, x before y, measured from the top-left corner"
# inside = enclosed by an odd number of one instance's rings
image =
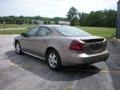
[[[59,54],[52,49],[47,52],[47,63],[50,69],[58,71],[62,69],[62,63]]]

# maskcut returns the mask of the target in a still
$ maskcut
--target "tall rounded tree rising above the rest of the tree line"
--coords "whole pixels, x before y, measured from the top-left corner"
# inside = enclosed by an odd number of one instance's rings
[[[76,22],[78,23],[78,13],[77,9],[74,7],[71,7],[67,13],[67,19],[70,21],[71,26],[76,25]]]

